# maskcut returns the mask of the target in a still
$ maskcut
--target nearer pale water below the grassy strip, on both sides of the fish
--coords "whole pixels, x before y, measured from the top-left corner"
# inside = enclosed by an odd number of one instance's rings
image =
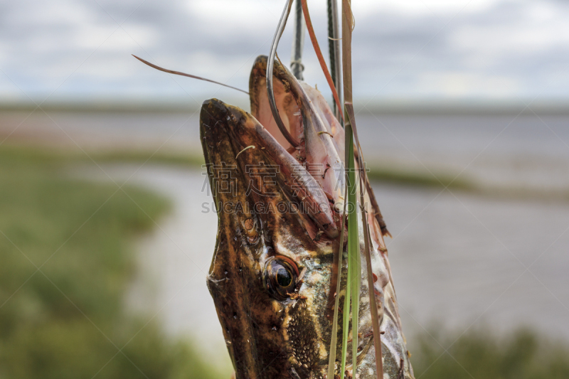
[[[138,165],[104,167],[128,178]],[[102,176],[101,176],[102,178]],[[206,287],[216,215],[201,171],[148,166],[131,183],[160,191],[175,211],[139,242],[139,274],[129,306],[157,315],[171,336],[188,336],[225,360]],[[390,262],[405,333],[433,323],[463,331],[529,326],[569,340],[569,204],[496,201],[448,191],[375,186],[393,234]]]

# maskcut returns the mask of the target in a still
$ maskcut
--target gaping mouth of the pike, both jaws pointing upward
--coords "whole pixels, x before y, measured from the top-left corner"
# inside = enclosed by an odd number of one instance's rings
[[[340,207],[336,203],[343,202],[344,176],[340,156],[344,152],[344,130],[317,90],[303,86],[287,68],[275,62],[277,107],[289,133],[300,141],[299,146],[291,146],[280,133],[270,111],[266,67],[267,58],[260,56],[251,72],[251,114],[218,99],[203,102],[201,142],[208,175],[219,179],[216,167],[220,164],[237,166],[246,182],[245,188],[238,186],[239,191],[259,195],[257,198],[261,201],[255,203],[257,208],[260,203],[265,203],[267,196],[280,193],[289,203],[288,207],[286,203],[280,203],[281,208],[301,210],[307,216],[308,223],[312,224],[307,224],[308,233],[321,231],[334,239],[339,236],[337,213]],[[222,149],[225,134],[230,143]],[[211,184],[213,188],[213,184],[231,183],[212,181]],[[216,191],[213,192],[216,197]],[[216,203],[223,203],[223,200],[229,199],[221,196],[216,198]]]

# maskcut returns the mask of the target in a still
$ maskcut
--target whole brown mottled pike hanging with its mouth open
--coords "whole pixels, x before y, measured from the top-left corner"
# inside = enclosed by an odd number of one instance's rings
[[[267,57],[260,56],[250,75],[250,113],[217,99],[201,108],[201,143],[218,213],[207,284],[237,379],[324,379],[336,296],[334,252],[342,230],[344,129],[320,92],[276,61],[277,108],[299,142],[289,144],[270,110],[266,70]],[[358,365],[356,373],[346,366],[347,377],[377,378],[373,296],[383,378],[413,379],[383,241],[388,232],[369,186],[365,203],[373,289],[362,259],[360,316],[351,321],[358,322],[359,333],[349,336],[357,338]],[[363,239],[360,245],[363,256]],[[345,281],[345,244],[341,251]],[[343,304],[344,291],[337,296]],[[338,333],[336,378],[341,325]]]

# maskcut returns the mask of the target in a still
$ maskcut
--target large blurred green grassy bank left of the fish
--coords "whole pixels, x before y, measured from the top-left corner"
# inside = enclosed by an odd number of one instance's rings
[[[168,201],[63,175],[76,162],[0,148],[0,378],[215,378],[191,346],[122,306],[130,242]]]

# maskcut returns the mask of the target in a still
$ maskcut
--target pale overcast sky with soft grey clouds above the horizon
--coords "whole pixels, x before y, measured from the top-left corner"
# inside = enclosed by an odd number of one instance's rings
[[[327,57],[326,1],[309,0]],[[283,0],[1,0],[0,99],[235,98]],[[567,0],[353,0],[354,94],[366,101],[569,100]],[[291,26],[279,55],[289,62]],[[305,79],[327,92],[305,41]]]

